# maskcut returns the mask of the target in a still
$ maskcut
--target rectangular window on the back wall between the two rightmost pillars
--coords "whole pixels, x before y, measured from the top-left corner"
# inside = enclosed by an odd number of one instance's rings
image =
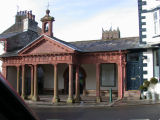
[[[116,70],[115,64],[101,64],[101,86],[116,86]]]

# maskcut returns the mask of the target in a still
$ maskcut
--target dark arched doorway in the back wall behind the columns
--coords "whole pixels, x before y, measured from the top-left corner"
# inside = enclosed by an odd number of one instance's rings
[[[67,67],[63,74],[64,78],[64,93],[68,93],[69,86],[69,67]],[[75,94],[75,80],[76,80],[76,66],[73,66],[73,94]],[[79,83],[80,83],[80,94],[85,90],[86,72],[82,67],[79,67]]]

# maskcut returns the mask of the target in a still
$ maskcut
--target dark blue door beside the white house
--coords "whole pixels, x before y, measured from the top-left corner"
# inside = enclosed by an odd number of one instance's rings
[[[140,86],[138,61],[127,63],[127,89],[138,90]]]

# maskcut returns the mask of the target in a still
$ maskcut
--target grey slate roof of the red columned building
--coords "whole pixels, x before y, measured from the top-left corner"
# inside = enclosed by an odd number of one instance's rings
[[[41,37],[41,36],[40,36]],[[38,37],[38,38],[40,38]],[[48,36],[47,36],[48,37]],[[36,38],[34,41],[36,41]],[[119,50],[133,50],[133,49],[145,49],[150,46],[140,46],[138,37],[128,37],[128,38],[119,38],[113,40],[90,40],[90,41],[77,41],[77,42],[65,42],[56,37],[52,37],[53,40],[56,40],[72,49],[79,52],[104,52],[104,51],[119,51]],[[32,44],[34,41],[29,43],[27,46]],[[7,52],[1,55],[0,57],[13,57],[17,56],[18,52],[25,49],[25,46],[22,49]]]

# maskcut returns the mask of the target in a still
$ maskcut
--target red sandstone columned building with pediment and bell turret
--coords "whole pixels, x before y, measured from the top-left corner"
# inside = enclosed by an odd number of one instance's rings
[[[86,50],[87,47],[80,48],[74,43],[53,37],[52,22],[54,18],[49,16],[49,12],[47,10],[46,15],[41,19],[43,25],[41,36],[18,50],[14,56],[10,56],[9,53],[1,56],[4,77],[12,81],[14,77],[8,77],[11,76],[11,73],[15,73],[16,84],[15,82],[13,84],[16,86],[17,92],[23,99],[33,101],[40,99],[38,95],[39,75],[45,77],[43,79],[45,86],[52,89],[53,103],[61,101],[60,89],[63,93],[68,94],[67,103],[81,100],[80,89],[83,89],[83,95],[95,91],[96,101],[101,102],[101,89],[105,88],[103,91],[107,91],[108,88],[114,87],[118,91],[118,99],[122,99],[125,88],[127,51],[125,49],[108,50],[103,45],[105,50],[99,49],[99,47]],[[107,45],[106,41],[102,42]],[[45,68],[43,73],[39,73],[39,66]],[[16,69],[11,71],[10,67]],[[104,70],[102,71],[102,69]],[[109,73],[107,74],[107,72]],[[30,77],[27,78],[27,76]],[[44,85],[44,83],[42,84]],[[28,89],[30,89],[29,95],[26,94]],[[74,92],[75,96],[73,96]]]

